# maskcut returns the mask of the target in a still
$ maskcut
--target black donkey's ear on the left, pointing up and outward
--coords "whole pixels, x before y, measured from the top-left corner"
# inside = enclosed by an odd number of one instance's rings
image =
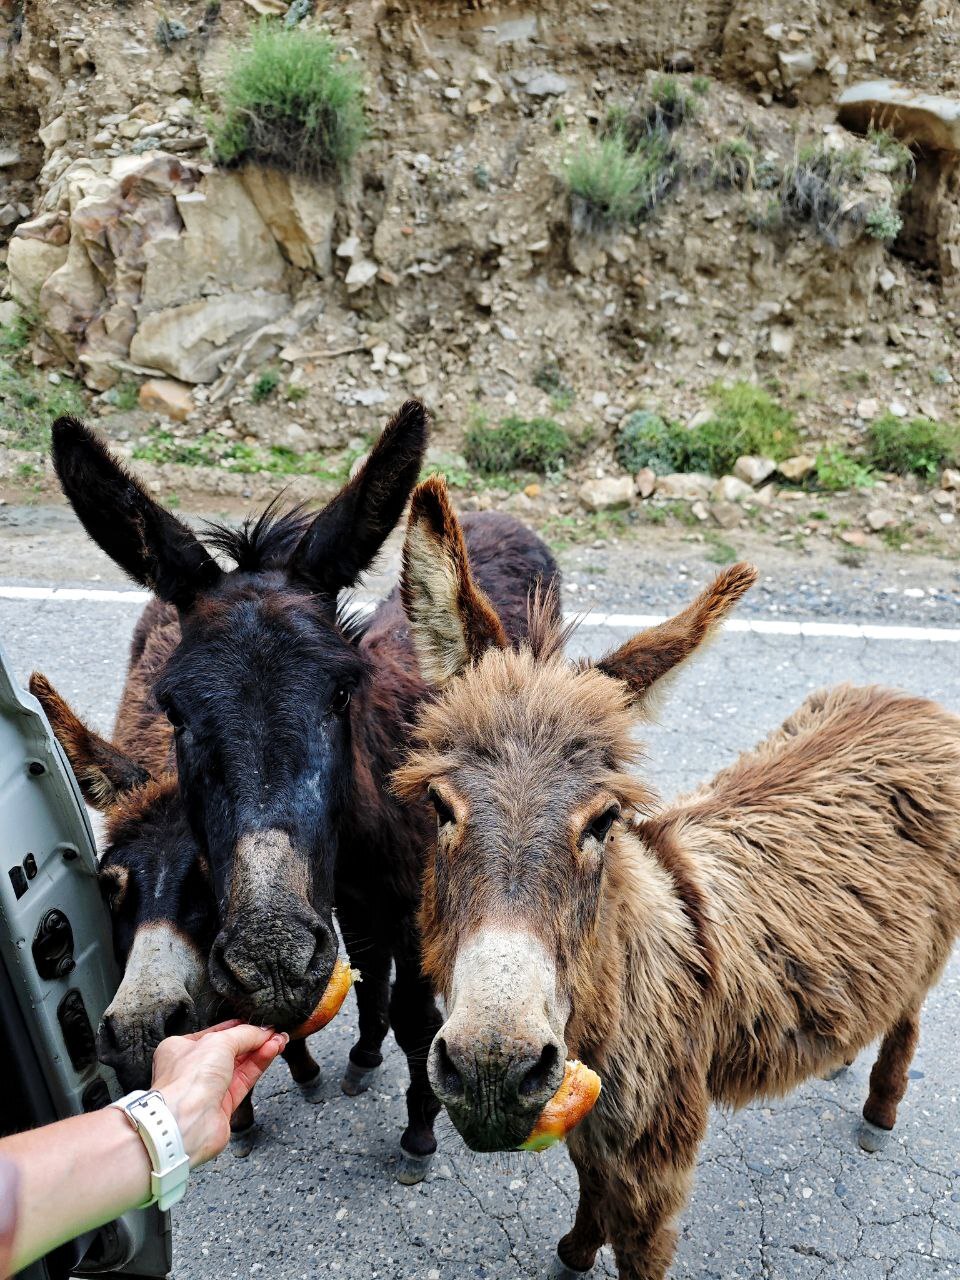
[[[60,486],[93,541],[141,586],[187,609],[221,570],[200,539],[154,502],[143,486],[76,417],[54,422]]]

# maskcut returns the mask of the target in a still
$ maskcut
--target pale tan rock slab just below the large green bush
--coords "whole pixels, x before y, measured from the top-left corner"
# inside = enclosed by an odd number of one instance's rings
[[[246,165],[241,179],[284,256],[294,266],[329,275],[335,188],[260,165]]]

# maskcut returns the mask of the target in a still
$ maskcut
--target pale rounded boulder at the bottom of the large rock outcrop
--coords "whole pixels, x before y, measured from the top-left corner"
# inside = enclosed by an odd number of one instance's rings
[[[198,298],[145,316],[131,342],[131,360],[183,383],[209,383],[252,330],[289,310],[285,293],[265,289]]]

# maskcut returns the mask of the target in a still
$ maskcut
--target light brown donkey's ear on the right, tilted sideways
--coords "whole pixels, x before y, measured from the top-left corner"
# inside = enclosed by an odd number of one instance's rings
[[[732,564],[701,591],[682,613],[640,631],[596,663],[596,669],[630,687],[644,703],[649,690],[709,639],[741,595],[756,581],[753,564]]]

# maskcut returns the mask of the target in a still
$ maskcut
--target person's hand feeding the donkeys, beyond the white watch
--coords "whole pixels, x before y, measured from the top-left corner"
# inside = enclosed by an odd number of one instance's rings
[[[283,1032],[233,1019],[161,1041],[152,1087],[177,1117],[191,1169],[223,1151],[230,1116],[288,1039]]]

